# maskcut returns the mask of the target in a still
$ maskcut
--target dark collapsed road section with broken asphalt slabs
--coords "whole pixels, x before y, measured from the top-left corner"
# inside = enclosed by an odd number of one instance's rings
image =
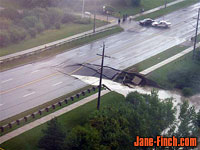
[[[79,68],[73,75],[93,76],[93,77],[99,77],[100,75],[100,69],[101,69],[100,65],[90,64],[90,63],[75,64],[66,66],[65,68],[63,68],[63,70],[65,69],[68,70],[68,68],[71,67]],[[103,68],[103,78],[124,84],[129,87],[133,86],[159,87],[155,82],[147,79],[144,75],[141,75],[136,72],[118,70],[108,66],[104,66]]]

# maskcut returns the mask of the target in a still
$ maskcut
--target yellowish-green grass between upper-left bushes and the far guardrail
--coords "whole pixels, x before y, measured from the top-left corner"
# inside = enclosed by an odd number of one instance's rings
[[[106,25],[104,21],[97,20],[97,27]],[[38,34],[35,38],[28,38],[17,44],[11,44],[5,48],[0,48],[0,56],[20,52],[29,48],[33,48],[39,45],[50,43],[56,40],[67,38],[78,33],[82,33],[93,28],[93,21],[90,24],[76,24],[68,23],[61,26],[61,29],[46,30]]]

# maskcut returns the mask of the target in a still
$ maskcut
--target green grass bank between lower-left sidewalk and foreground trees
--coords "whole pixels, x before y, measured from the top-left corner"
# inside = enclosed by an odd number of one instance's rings
[[[101,107],[121,100],[124,100],[122,95],[115,92],[108,93],[102,96]],[[68,131],[77,125],[83,125],[89,115],[96,110],[96,103],[97,99],[58,117],[58,121],[62,125],[63,130]],[[41,131],[45,127],[46,123],[1,144],[0,147],[6,150],[37,150],[38,140],[42,136]]]

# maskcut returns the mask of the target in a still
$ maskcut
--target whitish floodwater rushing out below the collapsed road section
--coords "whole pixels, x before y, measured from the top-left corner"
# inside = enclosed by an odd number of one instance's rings
[[[90,77],[90,76],[79,76],[79,75],[74,75],[74,77],[82,80],[83,82],[90,84],[90,85],[99,85],[99,78],[96,77]],[[130,92],[137,91],[142,94],[150,94],[151,91],[153,90],[152,87],[138,87],[134,86],[133,88],[129,88],[127,86],[124,86],[120,83],[113,82],[111,80],[102,80],[102,84],[106,85],[109,87],[112,91],[116,91],[120,94],[123,94],[126,96]],[[183,97],[179,92],[177,91],[167,91],[167,90],[159,90],[158,91],[158,96],[160,99],[164,100],[166,98],[173,98],[173,103],[175,106],[177,106],[178,103],[184,101],[186,98]],[[189,99],[190,105],[195,106],[196,110],[200,109],[200,94],[193,96]]]

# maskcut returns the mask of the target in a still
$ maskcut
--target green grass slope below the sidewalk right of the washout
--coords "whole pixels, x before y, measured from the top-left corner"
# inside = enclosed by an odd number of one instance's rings
[[[173,89],[175,83],[171,83],[168,80],[170,73],[176,73],[181,70],[194,71],[200,69],[200,63],[192,60],[192,52],[184,55],[183,57],[151,72],[147,78],[156,81],[161,87],[166,89]]]

